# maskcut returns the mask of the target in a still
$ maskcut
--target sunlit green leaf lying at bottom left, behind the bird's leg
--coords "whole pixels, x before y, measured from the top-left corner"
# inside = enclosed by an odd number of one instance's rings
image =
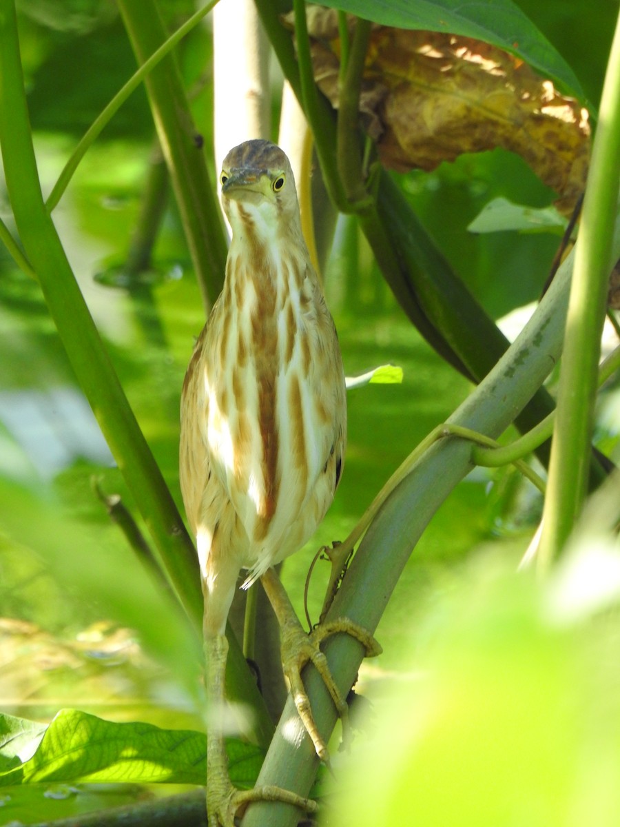
[[[10,716],[4,716],[4,718]],[[12,719],[12,731],[31,722]],[[238,739],[227,740],[231,781],[254,785],[264,753]],[[79,710],[60,710],[28,761],[0,773],[0,786],[64,783],[199,784],[207,776],[207,736],[153,724],[118,724]]]

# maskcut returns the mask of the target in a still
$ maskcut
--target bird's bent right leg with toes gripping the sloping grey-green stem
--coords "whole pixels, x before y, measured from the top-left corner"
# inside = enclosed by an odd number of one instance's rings
[[[265,588],[265,593],[278,618],[281,635],[282,665],[284,675],[289,681],[291,696],[293,696],[299,717],[302,719],[303,725],[312,739],[318,757],[329,766],[327,744],[318,732],[317,724],[312,715],[308,693],[303,686],[301,677],[302,669],[308,662],[312,662],[317,672],[321,675],[327,691],[331,696],[331,700],[333,700],[338,715],[341,718],[342,737],[343,741],[346,741],[349,734],[349,707],[336,685],[336,681],[334,681],[334,677],[327,664],[327,657],[325,657],[321,651],[321,643],[331,634],[343,632],[350,634],[353,638],[360,641],[365,647],[366,657],[379,655],[382,651],[381,647],[367,629],[364,629],[348,618],[339,618],[331,620],[328,623],[322,623],[307,634],[303,630],[302,624],[299,623],[297,614],[295,614],[293,605],[289,600],[289,595],[287,595],[284,590],[284,586],[280,582],[279,576],[274,569],[269,568],[265,574],[261,576],[260,581]]]

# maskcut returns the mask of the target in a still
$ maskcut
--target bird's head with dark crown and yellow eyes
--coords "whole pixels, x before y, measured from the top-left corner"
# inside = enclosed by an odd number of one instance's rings
[[[222,164],[222,205],[233,233],[250,218],[271,228],[299,221],[293,170],[284,152],[270,141],[245,141]]]

